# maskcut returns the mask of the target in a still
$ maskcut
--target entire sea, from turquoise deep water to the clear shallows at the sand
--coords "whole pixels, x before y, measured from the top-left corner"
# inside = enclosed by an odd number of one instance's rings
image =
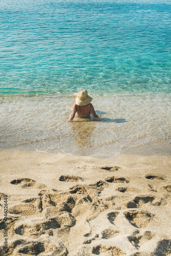
[[[0,6],[0,149],[171,153],[170,1],[0,0]],[[102,122],[60,122],[83,89]]]

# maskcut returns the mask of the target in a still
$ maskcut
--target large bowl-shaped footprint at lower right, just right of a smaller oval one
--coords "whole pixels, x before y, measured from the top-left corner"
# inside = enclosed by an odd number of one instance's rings
[[[148,226],[148,223],[153,219],[154,215],[147,211],[128,211],[124,213],[125,217],[131,225],[136,228],[145,228]]]

